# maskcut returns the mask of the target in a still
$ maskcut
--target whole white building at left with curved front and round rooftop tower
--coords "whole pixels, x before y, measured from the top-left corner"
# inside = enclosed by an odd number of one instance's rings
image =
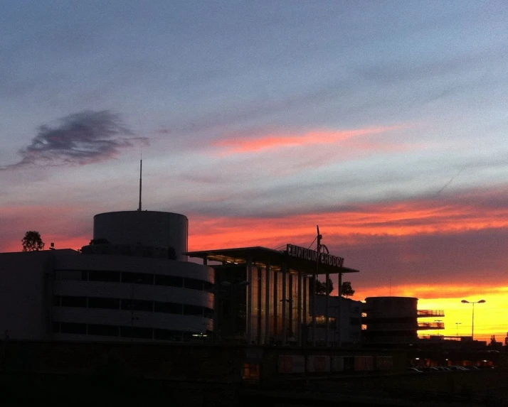
[[[0,329],[19,340],[191,340],[213,330],[213,269],[186,261],[188,221],[94,217],[92,245],[0,254]]]

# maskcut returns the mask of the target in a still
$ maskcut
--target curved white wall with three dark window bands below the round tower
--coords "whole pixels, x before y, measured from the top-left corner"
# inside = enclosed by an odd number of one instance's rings
[[[208,266],[82,254],[57,256],[54,272],[54,339],[181,341],[213,331]]]

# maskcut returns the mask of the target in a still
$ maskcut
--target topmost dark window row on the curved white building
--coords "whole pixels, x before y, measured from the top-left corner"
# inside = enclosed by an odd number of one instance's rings
[[[197,278],[164,276],[152,273],[127,273],[125,271],[56,270],[57,280],[102,281],[106,283],[147,284],[211,291],[213,284]]]

